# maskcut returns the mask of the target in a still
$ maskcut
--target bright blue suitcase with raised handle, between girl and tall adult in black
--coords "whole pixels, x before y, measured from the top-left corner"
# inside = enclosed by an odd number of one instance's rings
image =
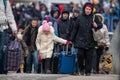
[[[66,51],[62,51],[59,62],[59,72],[64,74],[73,74],[75,72],[76,64],[76,52],[73,47],[68,51],[68,45]]]

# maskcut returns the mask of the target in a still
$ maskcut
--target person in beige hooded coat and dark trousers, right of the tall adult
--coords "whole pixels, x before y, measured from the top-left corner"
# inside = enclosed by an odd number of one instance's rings
[[[108,50],[110,46],[110,39],[109,39],[109,34],[108,34],[108,29],[107,26],[103,23],[104,22],[104,17],[102,14],[95,14],[95,16],[98,16],[99,21],[103,24],[103,27],[100,29],[103,36],[102,39],[100,39],[97,42],[97,47],[96,47],[96,72],[99,73],[99,63],[100,63],[100,58],[104,54],[104,50]]]

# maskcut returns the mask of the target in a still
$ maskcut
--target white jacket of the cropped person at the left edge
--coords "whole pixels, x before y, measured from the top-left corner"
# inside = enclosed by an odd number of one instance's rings
[[[6,0],[6,1],[7,1],[6,2],[7,6],[6,6],[6,11],[5,11],[5,6],[4,6],[3,0],[0,0],[0,24],[4,24],[4,23],[6,23],[6,21],[8,21],[12,31],[17,32],[16,23],[14,20],[14,16],[12,13],[12,9],[11,9],[9,0]],[[0,31],[3,31],[7,28],[8,28],[7,25],[0,26]]]

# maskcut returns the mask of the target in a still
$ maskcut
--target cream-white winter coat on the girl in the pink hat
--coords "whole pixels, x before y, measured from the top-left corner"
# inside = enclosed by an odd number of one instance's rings
[[[42,26],[40,26],[36,39],[36,47],[40,52],[42,59],[52,57],[54,42],[66,44],[66,40],[55,36],[52,26],[50,26],[50,33],[48,35],[42,31]]]

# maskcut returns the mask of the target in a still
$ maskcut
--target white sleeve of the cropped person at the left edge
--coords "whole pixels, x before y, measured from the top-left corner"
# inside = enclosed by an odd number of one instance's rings
[[[12,31],[17,32],[16,22],[12,13],[9,0],[7,0],[6,17]]]

